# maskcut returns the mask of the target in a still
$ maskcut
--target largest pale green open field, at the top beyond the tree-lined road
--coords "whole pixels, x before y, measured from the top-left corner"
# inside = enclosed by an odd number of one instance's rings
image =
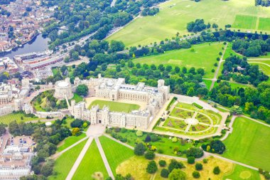
[[[195,21],[196,18],[203,18],[205,23],[217,23],[219,28],[224,28],[226,24],[233,24],[237,15],[270,17],[270,9],[254,6],[254,0],[204,0],[199,3],[172,0],[159,6],[160,12],[156,16],[136,18],[135,21],[114,33],[107,40],[123,41],[126,46],[148,45],[171,38],[177,32],[180,33],[180,36],[188,34],[186,25],[190,21]],[[269,23],[263,22],[259,27],[270,32]]]

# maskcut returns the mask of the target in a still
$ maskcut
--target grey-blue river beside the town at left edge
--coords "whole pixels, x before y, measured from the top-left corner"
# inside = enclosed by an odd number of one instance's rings
[[[13,58],[15,55],[19,54],[45,51],[48,49],[48,41],[50,41],[49,38],[43,38],[42,35],[39,34],[38,36],[36,36],[36,38],[33,38],[31,41],[21,47],[15,48],[10,52],[0,53],[0,58]]]

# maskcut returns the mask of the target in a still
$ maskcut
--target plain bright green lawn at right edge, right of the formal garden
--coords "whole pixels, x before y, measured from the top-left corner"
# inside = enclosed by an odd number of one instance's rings
[[[234,121],[223,157],[270,171],[270,128],[244,117]]]

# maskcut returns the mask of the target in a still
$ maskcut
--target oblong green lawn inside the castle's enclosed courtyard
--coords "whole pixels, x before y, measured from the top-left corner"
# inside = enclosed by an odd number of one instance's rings
[[[104,105],[109,107],[110,111],[115,112],[131,112],[132,110],[139,110],[140,106],[135,104],[128,104],[124,102],[114,102],[114,101],[106,101],[106,100],[95,100],[91,103],[88,109],[91,109],[93,105],[99,105],[99,108],[103,108]]]

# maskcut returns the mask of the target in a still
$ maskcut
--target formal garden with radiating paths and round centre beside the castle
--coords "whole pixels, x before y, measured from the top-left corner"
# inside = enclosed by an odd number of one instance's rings
[[[178,102],[171,105],[168,117],[161,118],[155,131],[173,132],[193,137],[214,134],[220,126],[222,116],[212,110],[204,110],[200,105]]]

